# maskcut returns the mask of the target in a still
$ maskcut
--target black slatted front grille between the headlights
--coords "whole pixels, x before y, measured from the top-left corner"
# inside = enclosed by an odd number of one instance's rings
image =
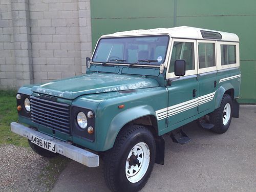
[[[70,133],[70,105],[34,96],[30,97],[31,120],[65,133]]]

